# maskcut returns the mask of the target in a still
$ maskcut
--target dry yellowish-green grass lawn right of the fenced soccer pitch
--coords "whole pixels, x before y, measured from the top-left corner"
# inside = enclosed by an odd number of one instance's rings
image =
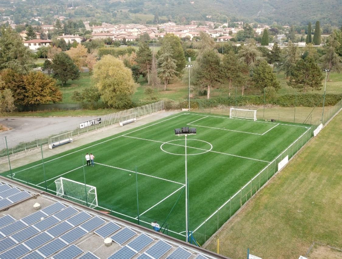
[[[231,258],[341,258],[328,247],[342,249],[341,139],[340,112],[206,248],[219,238]]]

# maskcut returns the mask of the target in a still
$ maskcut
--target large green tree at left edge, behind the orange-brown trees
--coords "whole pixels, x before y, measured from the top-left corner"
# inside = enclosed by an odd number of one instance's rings
[[[18,73],[27,73],[33,64],[31,51],[23,39],[10,26],[0,27],[0,69],[10,68]]]

